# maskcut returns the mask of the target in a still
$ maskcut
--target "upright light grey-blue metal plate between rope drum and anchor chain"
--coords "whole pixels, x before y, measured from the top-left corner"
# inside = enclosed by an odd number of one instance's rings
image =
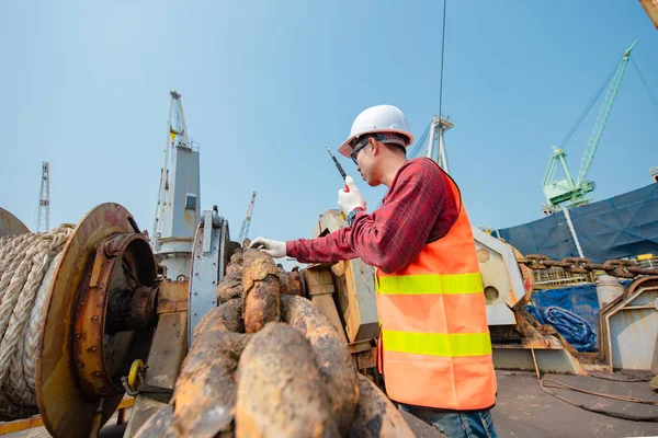
[[[196,229],[192,253],[189,297],[189,345],[192,345],[194,327],[204,314],[217,307],[215,291],[224,277],[228,251],[228,221],[216,211],[204,211]]]

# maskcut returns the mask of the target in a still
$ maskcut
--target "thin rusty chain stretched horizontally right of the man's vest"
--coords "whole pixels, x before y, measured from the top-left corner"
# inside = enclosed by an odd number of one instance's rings
[[[527,254],[525,257],[517,258],[521,265],[534,270],[545,270],[559,267],[569,274],[589,274],[594,270],[603,270],[605,274],[619,278],[635,278],[642,275],[658,275],[658,268],[643,268],[633,261],[613,258],[603,264],[591,263],[589,258],[566,257],[561,261],[551,260],[543,254]]]

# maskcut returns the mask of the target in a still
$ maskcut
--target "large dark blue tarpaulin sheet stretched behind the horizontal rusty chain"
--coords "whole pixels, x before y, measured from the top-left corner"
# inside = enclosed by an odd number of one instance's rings
[[[658,184],[569,210],[583,255],[594,263],[658,254]],[[577,257],[578,250],[564,211],[498,235],[522,254]]]

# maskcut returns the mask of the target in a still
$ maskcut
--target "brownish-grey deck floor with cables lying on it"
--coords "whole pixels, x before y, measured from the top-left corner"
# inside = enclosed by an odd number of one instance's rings
[[[497,371],[498,400],[494,407],[494,425],[500,437],[650,437],[658,436],[658,423],[633,422],[592,413],[565,403],[542,391],[535,374],[527,372]],[[627,378],[624,374],[615,374]],[[606,394],[633,395],[658,401],[648,382],[613,382],[593,377],[547,374],[546,378],[572,387]],[[658,422],[658,406],[639,405],[594,397],[568,390],[554,390],[576,403],[631,415],[654,416]],[[405,418],[419,438],[441,437],[436,429],[404,413]],[[124,427],[110,420],[101,437],[121,437]],[[11,438],[48,437],[45,428],[10,434]]]

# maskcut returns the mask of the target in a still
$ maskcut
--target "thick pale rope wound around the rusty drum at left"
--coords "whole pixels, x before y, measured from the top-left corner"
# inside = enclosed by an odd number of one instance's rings
[[[37,412],[36,347],[59,254],[73,230],[0,238],[0,420]]]

